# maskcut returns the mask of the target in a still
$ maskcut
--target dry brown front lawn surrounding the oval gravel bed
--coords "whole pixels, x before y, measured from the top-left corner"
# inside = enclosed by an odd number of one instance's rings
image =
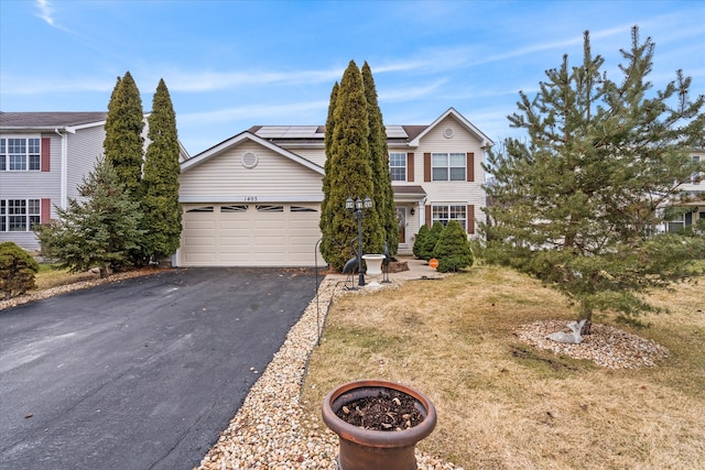
[[[438,412],[420,447],[466,469],[704,468],[703,285],[653,299],[672,313],[647,317],[649,328],[609,315],[597,320],[655,340],[670,359],[606,370],[518,340],[521,324],[574,314],[555,292],[512,271],[479,266],[346,294],[330,308],[302,403],[319,416],[324,395],[340,383],[412,385]]]

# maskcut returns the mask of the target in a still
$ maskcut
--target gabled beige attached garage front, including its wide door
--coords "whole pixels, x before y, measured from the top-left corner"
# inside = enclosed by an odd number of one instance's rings
[[[181,164],[178,266],[324,265],[323,167],[250,132]]]

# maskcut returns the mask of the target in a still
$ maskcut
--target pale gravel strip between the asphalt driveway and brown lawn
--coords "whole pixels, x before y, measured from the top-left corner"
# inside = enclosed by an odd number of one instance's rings
[[[338,437],[299,404],[308,356],[317,342],[328,305],[343,283],[325,278],[316,298],[292,327],[281,349],[250,390],[245,403],[220,433],[198,470],[335,469]],[[252,370],[252,373],[260,371]],[[455,466],[416,450],[420,470],[452,470]],[[462,470],[457,468],[458,470]]]

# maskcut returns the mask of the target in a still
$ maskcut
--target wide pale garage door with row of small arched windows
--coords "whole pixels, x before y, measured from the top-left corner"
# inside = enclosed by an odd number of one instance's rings
[[[315,264],[317,204],[192,204],[184,210],[182,266]]]

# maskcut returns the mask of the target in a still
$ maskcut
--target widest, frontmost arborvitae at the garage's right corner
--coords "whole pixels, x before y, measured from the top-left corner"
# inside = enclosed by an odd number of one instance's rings
[[[373,197],[372,168],[370,164],[369,123],[362,75],[350,61],[335,99],[334,129],[326,159],[327,187],[322,204],[321,230],[324,236],[321,253],[328,264],[341,269],[354,254],[351,242],[357,239],[357,221],[345,209],[348,197]],[[384,231],[377,208],[365,211],[362,223],[364,250],[380,253],[384,245]]]

